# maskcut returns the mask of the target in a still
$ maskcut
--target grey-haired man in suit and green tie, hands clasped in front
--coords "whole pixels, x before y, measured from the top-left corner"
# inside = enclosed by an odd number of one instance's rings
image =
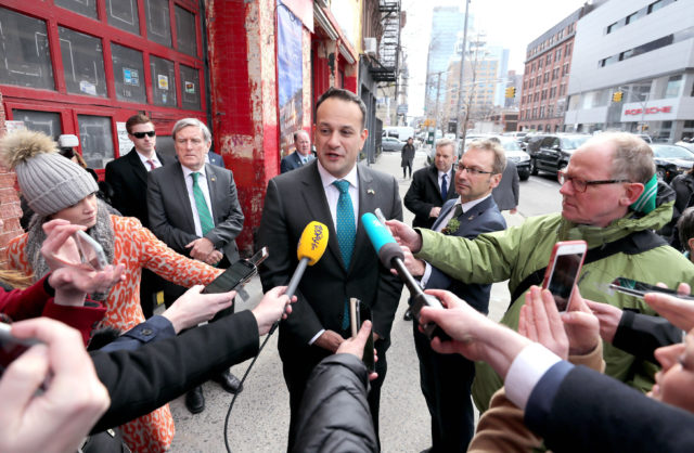
[[[178,163],[150,173],[147,205],[152,232],[181,255],[228,268],[239,260],[235,237],[244,216],[230,170],[205,164],[211,145],[209,129],[195,118],[183,118],[171,132]],[[174,295],[175,290],[170,290]],[[218,313],[215,319],[229,314]],[[223,372],[224,390],[240,391],[239,379]],[[202,387],[190,391],[185,404],[192,413],[205,409]]]

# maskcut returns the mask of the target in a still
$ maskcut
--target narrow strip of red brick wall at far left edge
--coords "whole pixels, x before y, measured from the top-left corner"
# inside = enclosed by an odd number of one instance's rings
[[[5,133],[4,119],[4,104],[0,93],[0,137]],[[0,229],[0,267],[2,268],[8,262],[8,242],[23,233],[20,226],[22,208],[17,191],[14,189],[14,171],[0,166],[0,219],[4,222],[4,226]]]

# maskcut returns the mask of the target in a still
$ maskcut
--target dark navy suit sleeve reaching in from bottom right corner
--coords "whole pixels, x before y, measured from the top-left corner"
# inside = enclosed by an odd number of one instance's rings
[[[583,366],[564,377],[551,401],[540,386],[543,380],[530,393],[524,420],[552,451],[694,451],[691,412]]]

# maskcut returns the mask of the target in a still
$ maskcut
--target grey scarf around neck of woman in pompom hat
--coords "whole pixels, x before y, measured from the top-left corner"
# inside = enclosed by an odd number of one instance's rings
[[[26,256],[31,270],[34,271],[35,282],[51,271],[41,255],[41,245],[46,240],[46,233],[43,232],[42,225],[49,220],[49,217],[34,215],[29,222],[29,228],[27,229],[28,236],[26,243]],[[110,263],[113,263],[115,247],[113,224],[111,223],[107,205],[101,199],[98,199],[97,224],[87,230],[87,234],[101,244],[104,248],[104,254],[106,254],[106,259]],[[92,294],[91,298],[92,300],[106,300],[107,296],[108,293],[97,293]]]

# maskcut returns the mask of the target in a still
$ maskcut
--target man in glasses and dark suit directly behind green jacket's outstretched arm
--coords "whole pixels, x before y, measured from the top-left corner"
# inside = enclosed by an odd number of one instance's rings
[[[506,164],[501,145],[475,142],[458,164],[455,191],[441,208],[432,230],[475,238],[478,234],[504,230],[506,222],[491,191],[499,184]],[[414,260],[426,289],[447,289],[487,314],[491,285],[465,284],[423,260]],[[475,363],[458,354],[439,354],[429,339],[413,325],[414,347],[420,359],[420,385],[432,415],[432,452],[464,452],[474,435],[475,416],[470,389]]]

